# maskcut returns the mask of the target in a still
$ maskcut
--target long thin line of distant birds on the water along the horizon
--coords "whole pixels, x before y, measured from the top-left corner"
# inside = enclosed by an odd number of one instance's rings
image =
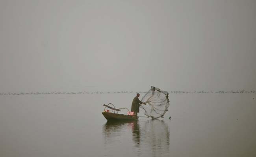
[[[53,91],[53,92],[20,92],[20,93],[0,93],[0,95],[60,95],[60,94],[116,94],[116,93],[148,93],[148,91],[107,91],[107,92],[102,92],[102,91],[95,91],[95,92],[88,92],[88,91],[79,91],[79,92],[59,92],[59,91]],[[252,91],[245,91],[245,90],[236,90],[236,91],[169,91],[169,93],[174,93],[174,94],[208,94],[208,93],[249,93],[249,94],[256,94],[255,90]]]

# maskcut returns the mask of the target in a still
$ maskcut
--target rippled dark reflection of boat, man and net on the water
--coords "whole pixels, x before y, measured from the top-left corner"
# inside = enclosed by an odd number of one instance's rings
[[[126,144],[133,145],[133,152],[137,155],[159,156],[162,154],[164,156],[169,154],[170,133],[164,120],[108,121],[103,126],[103,135],[105,144],[115,144],[126,140]]]

